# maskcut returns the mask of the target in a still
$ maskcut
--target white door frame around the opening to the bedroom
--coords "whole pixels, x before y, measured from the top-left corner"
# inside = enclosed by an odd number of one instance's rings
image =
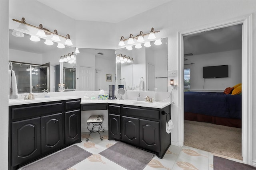
[[[178,67],[179,76],[178,82],[180,88],[178,89],[180,111],[178,114],[178,146],[183,146],[184,143],[184,49],[183,37],[192,35],[202,31],[209,31],[212,29],[228,27],[231,25],[243,24],[242,34],[242,156],[243,162],[252,165],[252,14],[245,17],[240,17],[227,21],[226,23],[219,23],[216,25],[208,25],[207,27],[198,30],[192,30],[184,33],[178,33]]]

